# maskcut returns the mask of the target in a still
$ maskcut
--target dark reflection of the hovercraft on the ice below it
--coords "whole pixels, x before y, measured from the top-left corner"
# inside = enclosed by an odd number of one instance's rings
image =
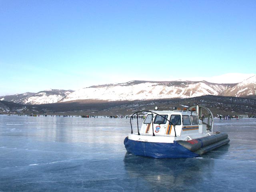
[[[126,155],[125,169],[131,177],[139,177],[149,190],[186,190],[188,183],[200,185],[207,169],[214,167],[214,161],[207,159],[152,159]]]

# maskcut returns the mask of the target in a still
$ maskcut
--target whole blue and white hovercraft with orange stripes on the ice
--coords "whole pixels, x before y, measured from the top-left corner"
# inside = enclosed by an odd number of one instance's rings
[[[139,130],[140,112],[148,113]],[[132,127],[133,117],[137,118],[136,129]],[[202,105],[188,110],[138,111],[130,118],[132,132],[124,139],[124,146],[138,156],[198,157],[230,141],[228,134],[212,131],[213,122],[212,112]]]

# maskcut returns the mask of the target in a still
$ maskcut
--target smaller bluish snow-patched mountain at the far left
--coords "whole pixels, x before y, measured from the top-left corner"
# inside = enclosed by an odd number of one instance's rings
[[[27,92],[24,94],[2,96],[0,100],[19,104],[49,104],[59,102],[72,92],[73,90],[50,89],[38,93]]]

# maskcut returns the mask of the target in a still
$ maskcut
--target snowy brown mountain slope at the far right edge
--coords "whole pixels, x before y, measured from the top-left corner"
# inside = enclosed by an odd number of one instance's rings
[[[225,90],[223,96],[256,98],[256,75]]]

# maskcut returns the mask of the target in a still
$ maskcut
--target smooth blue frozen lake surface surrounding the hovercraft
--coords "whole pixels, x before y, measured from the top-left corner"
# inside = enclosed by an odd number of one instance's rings
[[[254,192],[256,119],[215,119],[230,143],[199,158],[126,155],[130,119],[0,115],[0,191]]]

